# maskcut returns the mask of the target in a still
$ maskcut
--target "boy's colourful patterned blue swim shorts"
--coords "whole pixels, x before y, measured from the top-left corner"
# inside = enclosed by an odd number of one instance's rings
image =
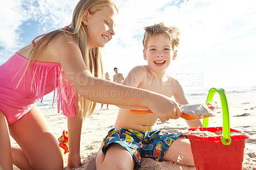
[[[131,153],[140,166],[141,157],[161,161],[164,153],[181,133],[170,134],[166,130],[132,130],[130,128],[112,128],[105,137],[102,152],[106,154],[109,144],[117,143]]]

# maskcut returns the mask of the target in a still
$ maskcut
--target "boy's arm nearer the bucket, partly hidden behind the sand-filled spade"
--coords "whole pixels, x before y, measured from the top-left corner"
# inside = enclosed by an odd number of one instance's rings
[[[174,82],[174,93],[173,93],[173,97],[175,98],[175,101],[180,104],[180,105],[185,105],[185,104],[189,104],[188,100],[185,96],[185,93],[183,91],[182,86],[180,85],[179,81],[173,79]],[[197,127],[202,127],[202,122],[200,120],[186,120],[189,128],[197,128]]]

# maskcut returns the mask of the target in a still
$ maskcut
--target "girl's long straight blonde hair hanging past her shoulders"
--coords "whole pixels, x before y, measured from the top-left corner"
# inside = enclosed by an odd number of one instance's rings
[[[34,43],[34,47],[29,53],[29,63],[26,68],[28,70],[29,65],[35,59],[39,59],[42,56],[47,44],[51,42],[53,38],[61,34],[70,34],[74,38],[74,41],[81,50],[83,60],[87,68],[95,77],[102,77],[103,75],[103,63],[102,63],[102,47],[95,47],[89,49],[88,36],[86,26],[82,24],[84,13],[88,10],[92,15],[95,12],[111,7],[118,12],[118,8],[111,0],[81,0],[77,3],[74,9],[72,22],[68,26],[68,29],[57,29],[45,34],[42,38],[38,38]],[[25,72],[26,72],[25,70]],[[25,73],[24,72],[24,73]],[[36,71],[35,71],[36,72]],[[22,76],[23,77],[23,76]],[[22,78],[21,78],[22,79]],[[76,93],[76,115],[79,118],[85,118],[90,116],[96,107],[96,102],[86,100]]]

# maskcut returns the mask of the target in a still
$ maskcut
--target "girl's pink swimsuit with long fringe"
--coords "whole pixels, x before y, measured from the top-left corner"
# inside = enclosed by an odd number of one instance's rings
[[[36,100],[42,102],[44,95],[53,90],[54,97],[57,91],[58,112],[61,110],[65,116],[75,116],[75,89],[63,75],[60,63],[34,61],[22,77],[28,62],[29,59],[16,52],[0,66],[0,110],[8,124],[22,118],[32,109]]]

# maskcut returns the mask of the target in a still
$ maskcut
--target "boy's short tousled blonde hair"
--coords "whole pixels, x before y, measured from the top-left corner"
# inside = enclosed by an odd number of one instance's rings
[[[166,36],[166,38],[168,38],[172,42],[173,51],[179,46],[180,30],[175,26],[167,27],[164,25],[163,22],[161,22],[160,24],[154,24],[153,26],[144,27],[144,29],[145,33],[142,41],[144,50],[147,49],[148,39],[150,37],[155,38],[157,35]]]

